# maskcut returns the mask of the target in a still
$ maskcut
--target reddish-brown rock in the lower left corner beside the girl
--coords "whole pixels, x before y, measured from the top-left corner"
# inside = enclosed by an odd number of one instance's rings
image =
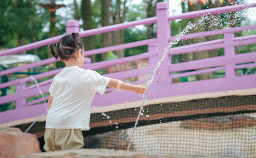
[[[18,128],[0,128],[0,157],[7,158],[23,134]],[[41,152],[36,135],[25,134],[10,158],[36,152]]]

